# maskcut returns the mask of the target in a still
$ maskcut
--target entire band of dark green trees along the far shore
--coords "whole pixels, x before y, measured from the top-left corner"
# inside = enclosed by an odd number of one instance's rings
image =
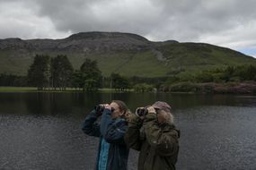
[[[0,74],[0,86],[32,86],[39,90],[73,88],[76,90],[96,90],[110,88],[116,90],[134,89],[135,91],[187,90],[195,83],[227,83],[256,81],[256,66],[237,65],[209,69],[190,75],[170,75],[156,78],[125,77],[113,72],[110,77],[103,77],[97,61],[84,60],[75,70],[66,55],[35,55],[26,76]],[[177,88],[178,87],[178,88]],[[182,87],[182,88],[181,88]]]

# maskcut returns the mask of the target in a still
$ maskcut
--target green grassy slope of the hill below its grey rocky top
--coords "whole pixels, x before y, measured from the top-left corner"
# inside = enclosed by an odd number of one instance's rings
[[[70,52],[50,52],[50,56],[67,55],[75,70],[84,63],[85,58],[98,62],[103,76],[112,72],[128,77],[163,77],[171,75],[190,76],[202,70],[222,68],[227,65],[253,64],[256,59],[243,55],[234,50],[200,43],[174,43],[155,47],[166,59],[157,60],[154,53],[144,51],[109,51],[106,53],[93,52],[90,54],[74,54]],[[37,54],[36,52],[33,52]],[[35,54],[22,51],[0,51],[0,73],[26,75]]]

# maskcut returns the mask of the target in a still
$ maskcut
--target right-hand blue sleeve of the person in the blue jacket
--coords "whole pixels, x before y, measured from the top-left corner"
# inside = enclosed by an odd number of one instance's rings
[[[101,120],[103,138],[109,143],[125,144],[124,135],[127,131],[127,122],[123,119],[113,120],[110,109],[105,109]]]

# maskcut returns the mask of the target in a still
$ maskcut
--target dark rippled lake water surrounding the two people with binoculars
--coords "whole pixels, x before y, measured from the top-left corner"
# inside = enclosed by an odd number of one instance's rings
[[[98,139],[81,131],[99,103],[134,111],[163,100],[181,130],[177,169],[256,169],[256,96],[164,93],[0,93],[1,170],[91,170]],[[128,169],[137,169],[131,150]]]

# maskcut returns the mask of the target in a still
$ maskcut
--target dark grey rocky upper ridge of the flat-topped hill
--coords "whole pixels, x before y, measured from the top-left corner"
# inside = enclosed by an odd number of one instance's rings
[[[27,51],[68,51],[93,52],[116,50],[144,50],[151,48],[152,42],[130,33],[119,32],[81,32],[63,39],[0,39],[1,50]]]

